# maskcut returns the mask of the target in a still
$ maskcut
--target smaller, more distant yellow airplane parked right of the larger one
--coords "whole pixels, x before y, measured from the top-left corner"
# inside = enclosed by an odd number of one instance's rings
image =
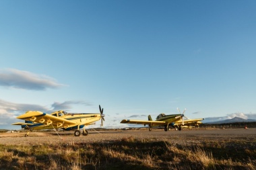
[[[164,131],[169,129],[169,126],[174,126],[174,124],[181,120],[183,121],[183,116],[186,109],[184,110],[183,114],[160,114],[156,117],[156,120],[152,120],[151,116],[148,116],[148,120],[122,120],[121,124],[143,124],[146,126],[148,124],[149,130],[152,130],[152,126],[164,126]]]

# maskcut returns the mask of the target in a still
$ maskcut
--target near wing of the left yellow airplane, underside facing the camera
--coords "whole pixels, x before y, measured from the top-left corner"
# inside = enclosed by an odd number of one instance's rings
[[[56,116],[52,116],[51,114],[45,114],[39,111],[28,111],[26,114],[22,114],[17,118],[44,125],[52,124],[53,126],[57,126],[57,128],[69,128],[77,125],[75,122],[71,122],[69,120],[58,118]]]

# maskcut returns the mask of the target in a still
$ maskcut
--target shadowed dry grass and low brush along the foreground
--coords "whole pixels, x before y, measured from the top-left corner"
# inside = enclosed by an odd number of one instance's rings
[[[256,169],[255,141],[189,145],[133,136],[110,142],[0,145],[0,169]]]

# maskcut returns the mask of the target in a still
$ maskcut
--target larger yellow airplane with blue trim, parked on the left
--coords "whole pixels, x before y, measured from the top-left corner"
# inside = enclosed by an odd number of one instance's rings
[[[100,105],[99,105],[100,108]],[[79,129],[83,128],[83,135],[87,136],[88,131],[85,127],[101,119],[100,126],[103,126],[104,114],[103,108],[100,108],[100,114],[70,114],[64,111],[53,112],[52,114],[45,114],[39,111],[28,111],[25,114],[17,117],[18,119],[25,120],[25,123],[18,122],[13,125],[21,125],[22,128],[29,131],[25,137],[33,130],[43,129],[63,129],[75,130],[74,135],[80,136]]]

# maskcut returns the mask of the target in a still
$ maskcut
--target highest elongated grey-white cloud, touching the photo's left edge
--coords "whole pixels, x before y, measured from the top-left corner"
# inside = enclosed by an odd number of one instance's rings
[[[20,71],[17,69],[0,70],[0,85],[5,87],[13,87],[16,89],[27,89],[43,91],[47,88],[57,89],[65,86],[57,83],[55,79],[46,75],[36,75],[28,71]]]

